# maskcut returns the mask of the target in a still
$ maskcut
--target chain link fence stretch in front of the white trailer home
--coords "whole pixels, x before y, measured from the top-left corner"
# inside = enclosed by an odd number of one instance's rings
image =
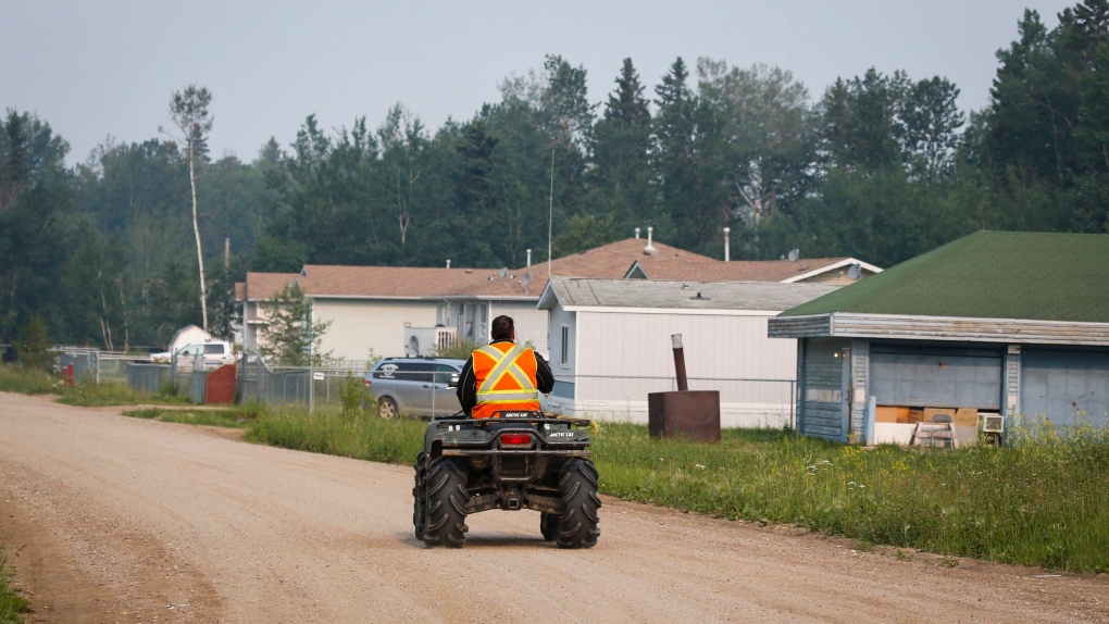
[[[724,428],[794,427],[796,381],[792,379],[689,378],[690,390],[720,392]],[[597,420],[647,423],[647,396],[678,390],[673,377],[556,376],[547,399],[551,411]]]

